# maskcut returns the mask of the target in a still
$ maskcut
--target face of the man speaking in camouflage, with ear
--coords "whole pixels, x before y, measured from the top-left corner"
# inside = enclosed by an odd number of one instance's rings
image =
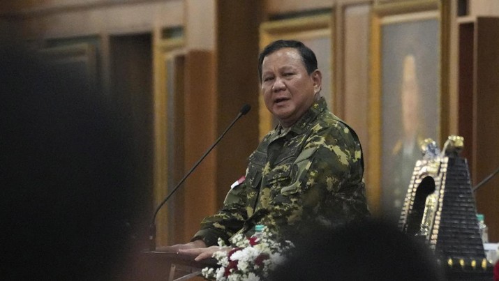
[[[308,75],[299,52],[283,48],[262,62],[262,94],[265,106],[282,126],[290,127],[311,107],[320,91],[319,70]]]

